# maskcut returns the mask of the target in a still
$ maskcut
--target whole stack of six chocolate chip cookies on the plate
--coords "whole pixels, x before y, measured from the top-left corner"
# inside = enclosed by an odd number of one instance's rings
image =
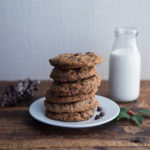
[[[83,121],[98,106],[95,93],[101,82],[95,68],[104,61],[96,53],[61,54],[49,60],[55,68],[53,82],[46,92],[46,116],[54,120]]]

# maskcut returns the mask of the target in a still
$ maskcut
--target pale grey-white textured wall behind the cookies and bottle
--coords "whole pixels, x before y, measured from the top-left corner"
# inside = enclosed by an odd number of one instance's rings
[[[150,0],[0,0],[0,80],[48,79],[48,59],[94,50],[108,78],[114,28],[135,26],[142,79],[150,79]]]

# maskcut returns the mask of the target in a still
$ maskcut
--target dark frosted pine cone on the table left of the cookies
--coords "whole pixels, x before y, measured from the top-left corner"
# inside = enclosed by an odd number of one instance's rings
[[[0,106],[13,106],[21,101],[32,99],[33,91],[38,90],[39,83],[37,80],[27,78],[26,80],[20,80],[16,85],[9,85],[2,94]]]

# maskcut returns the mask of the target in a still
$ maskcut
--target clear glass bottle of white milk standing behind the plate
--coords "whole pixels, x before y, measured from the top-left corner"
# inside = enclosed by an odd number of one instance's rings
[[[137,47],[138,31],[117,28],[109,62],[109,94],[115,101],[129,102],[140,93],[141,56]]]

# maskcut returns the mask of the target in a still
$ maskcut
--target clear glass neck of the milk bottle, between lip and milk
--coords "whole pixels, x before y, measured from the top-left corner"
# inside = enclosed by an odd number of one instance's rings
[[[118,35],[116,36],[113,49],[133,49],[137,50],[137,41],[135,35]]]

